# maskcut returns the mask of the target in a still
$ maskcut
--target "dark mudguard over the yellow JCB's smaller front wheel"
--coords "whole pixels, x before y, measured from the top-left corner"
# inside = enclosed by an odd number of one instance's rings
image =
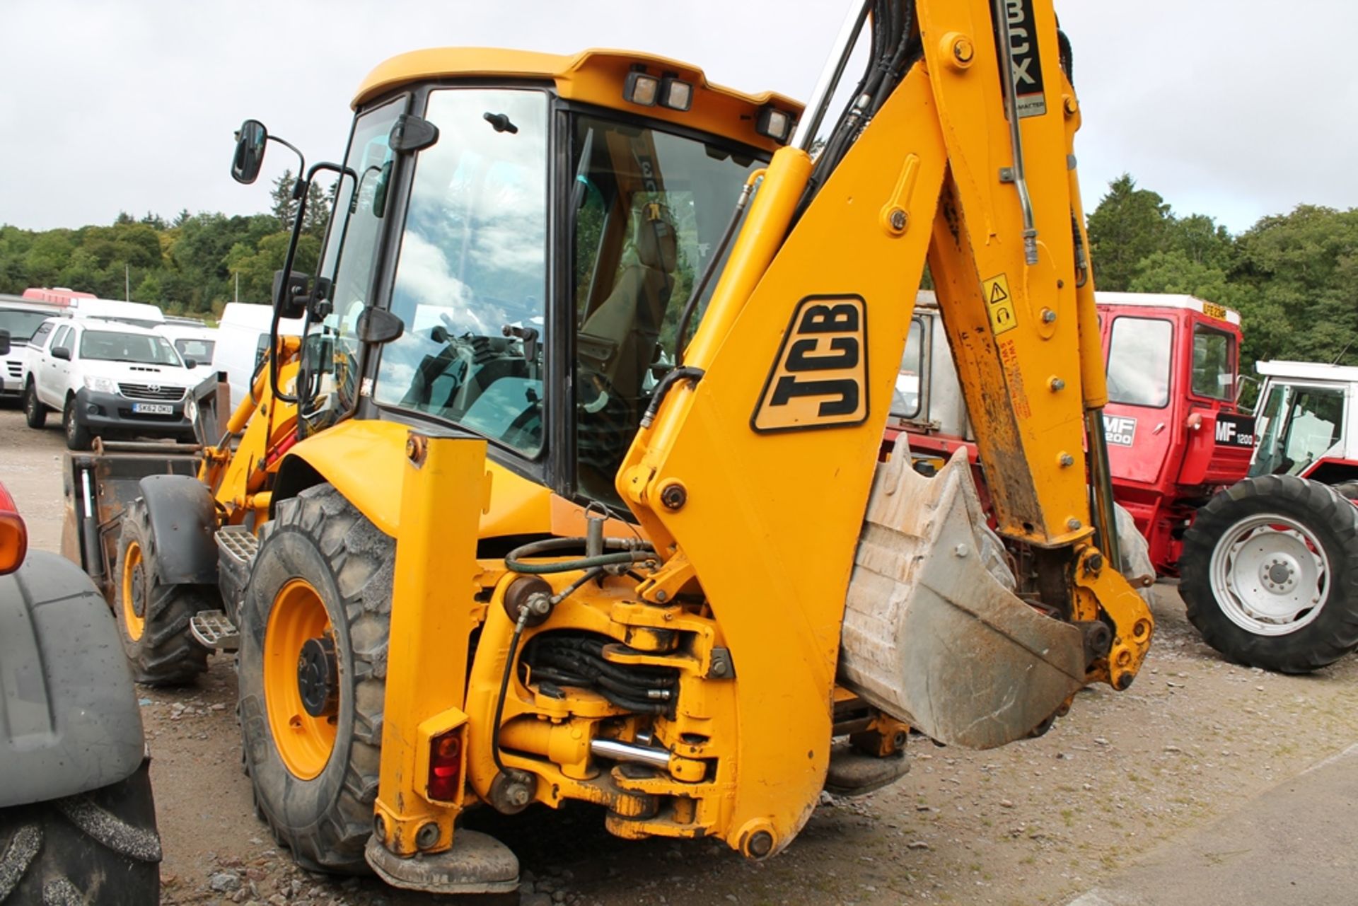
[[[167,585],[216,585],[217,513],[212,492],[187,475],[147,475],[141,497],[151,516],[156,573]]]

